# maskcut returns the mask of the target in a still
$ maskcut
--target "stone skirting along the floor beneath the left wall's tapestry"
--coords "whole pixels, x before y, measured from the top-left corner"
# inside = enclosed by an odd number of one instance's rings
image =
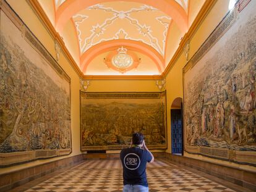
[[[11,173],[0,174],[0,191],[11,190],[12,188],[35,180],[36,178],[55,172],[56,170],[62,169],[64,167],[79,164],[82,161],[83,156],[80,154],[78,156],[59,159],[53,162],[28,167]]]

